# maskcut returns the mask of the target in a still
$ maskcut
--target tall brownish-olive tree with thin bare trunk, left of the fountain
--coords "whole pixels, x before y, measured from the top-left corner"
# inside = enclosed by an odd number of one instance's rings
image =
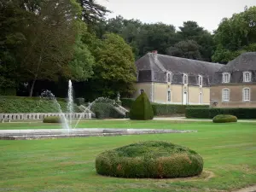
[[[65,73],[79,32],[79,4],[74,0],[47,0],[39,6],[29,12],[17,52],[23,77],[32,81],[30,96],[38,79],[56,80]]]

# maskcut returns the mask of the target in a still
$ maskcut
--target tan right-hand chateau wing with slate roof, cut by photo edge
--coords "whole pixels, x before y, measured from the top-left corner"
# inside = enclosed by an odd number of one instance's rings
[[[256,108],[256,52],[236,57],[214,75],[212,107]]]

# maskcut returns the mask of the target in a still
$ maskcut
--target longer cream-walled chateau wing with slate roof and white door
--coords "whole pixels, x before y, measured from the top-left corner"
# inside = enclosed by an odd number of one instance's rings
[[[148,53],[136,61],[137,91],[144,91],[150,102],[210,104],[210,86],[214,73],[223,65],[168,55]]]

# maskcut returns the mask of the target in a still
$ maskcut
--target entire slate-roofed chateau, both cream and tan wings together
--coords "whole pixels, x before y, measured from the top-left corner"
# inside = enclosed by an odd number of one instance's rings
[[[144,91],[150,102],[256,108],[256,52],[222,65],[153,51],[136,61],[136,67],[134,97]]]

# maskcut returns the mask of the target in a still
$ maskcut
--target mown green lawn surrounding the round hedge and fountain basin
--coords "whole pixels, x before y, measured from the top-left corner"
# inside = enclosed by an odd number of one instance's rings
[[[84,121],[79,127],[169,128],[196,133],[0,141],[0,191],[231,191],[256,183],[256,124],[171,121]],[[0,129],[58,128],[0,124]],[[95,157],[129,143],[164,140],[195,149],[212,172],[193,180],[102,177]]]

